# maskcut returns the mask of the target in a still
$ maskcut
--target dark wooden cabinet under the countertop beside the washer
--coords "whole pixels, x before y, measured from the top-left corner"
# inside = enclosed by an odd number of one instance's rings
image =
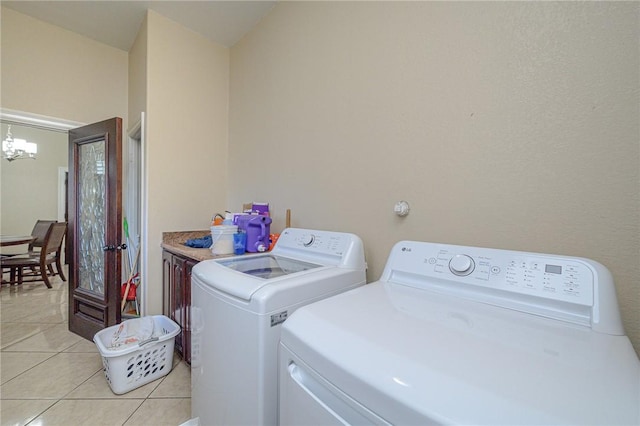
[[[162,252],[163,313],[182,329],[176,336],[175,349],[188,364],[191,364],[191,269],[197,263],[167,250]]]

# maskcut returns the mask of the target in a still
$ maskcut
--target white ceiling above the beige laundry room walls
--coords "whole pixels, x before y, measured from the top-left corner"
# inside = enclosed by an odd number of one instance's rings
[[[2,6],[93,40],[129,51],[147,9],[152,9],[209,40],[233,46],[276,1],[5,1]]]

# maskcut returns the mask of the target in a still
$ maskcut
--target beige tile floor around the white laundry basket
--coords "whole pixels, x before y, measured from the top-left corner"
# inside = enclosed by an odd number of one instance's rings
[[[0,290],[0,424],[171,425],[191,416],[189,366],[114,394],[95,344],[67,329],[67,283]]]

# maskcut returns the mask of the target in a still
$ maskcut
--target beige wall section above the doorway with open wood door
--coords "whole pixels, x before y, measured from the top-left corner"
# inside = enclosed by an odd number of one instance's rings
[[[1,10],[3,108],[82,123],[118,116],[126,124],[127,52]]]

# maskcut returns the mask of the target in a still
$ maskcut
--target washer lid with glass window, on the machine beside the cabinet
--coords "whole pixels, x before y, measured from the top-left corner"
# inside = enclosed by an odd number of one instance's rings
[[[210,287],[248,301],[271,280],[320,267],[322,265],[264,254],[205,260],[193,267],[192,275]]]

